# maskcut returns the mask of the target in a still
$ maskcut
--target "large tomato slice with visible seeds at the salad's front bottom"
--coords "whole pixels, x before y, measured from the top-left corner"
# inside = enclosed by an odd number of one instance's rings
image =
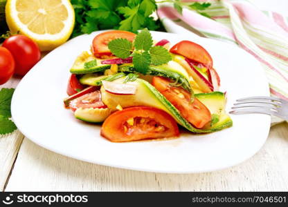
[[[167,112],[148,106],[118,110],[102,125],[101,135],[110,141],[137,141],[179,137],[176,121]]]

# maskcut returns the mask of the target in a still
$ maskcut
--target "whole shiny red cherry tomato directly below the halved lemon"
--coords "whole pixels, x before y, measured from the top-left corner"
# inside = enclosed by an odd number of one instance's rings
[[[26,75],[26,73],[40,60],[41,52],[37,44],[21,34],[13,35],[3,42],[15,59],[15,74]]]

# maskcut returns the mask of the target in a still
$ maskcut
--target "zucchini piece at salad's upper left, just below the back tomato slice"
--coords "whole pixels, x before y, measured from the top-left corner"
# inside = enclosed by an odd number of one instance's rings
[[[93,72],[103,72],[109,69],[111,65],[101,64],[100,59],[96,59],[93,55],[90,55],[87,51],[82,52],[73,63],[70,72],[73,74],[87,74]]]

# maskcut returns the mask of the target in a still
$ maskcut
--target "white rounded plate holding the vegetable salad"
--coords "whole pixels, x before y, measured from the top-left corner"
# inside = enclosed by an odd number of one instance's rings
[[[267,115],[234,115],[233,127],[209,135],[182,133],[179,139],[112,143],[100,137],[100,126],[74,119],[63,106],[69,69],[89,50],[93,37],[85,34],[50,52],[21,80],[12,99],[12,118],[19,130],[39,146],[95,164],[151,172],[207,172],[234,166],[253,156],[269,133]],[[212,39],[191,39],[152,32],[154,39],[172,44],[188,39],[213,57],[227,91],[227,110],[237,98],[269,95],[260,63],[244,50]]]

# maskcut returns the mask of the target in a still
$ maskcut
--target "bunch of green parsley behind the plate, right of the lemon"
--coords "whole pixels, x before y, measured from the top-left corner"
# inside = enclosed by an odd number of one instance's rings
[[[137,32],[156,30],[159,20],[150,17],[156,10],[154,0],[71,0],[75,10],[72,37],[96,30],[119,29]]]

